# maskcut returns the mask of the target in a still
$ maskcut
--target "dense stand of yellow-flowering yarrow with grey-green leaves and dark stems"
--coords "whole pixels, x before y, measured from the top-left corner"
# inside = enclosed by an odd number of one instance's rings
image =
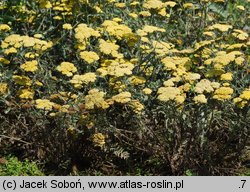
[[[118,158],[118,172],[124,159],[154,174],[233,170],[250,130],[249,7],[2,1],[0,130],[47,163],[91,159],[106,170]],[[23,129],[7,128],[14,117]],[[34,124],[27,134],[26,123]]]

